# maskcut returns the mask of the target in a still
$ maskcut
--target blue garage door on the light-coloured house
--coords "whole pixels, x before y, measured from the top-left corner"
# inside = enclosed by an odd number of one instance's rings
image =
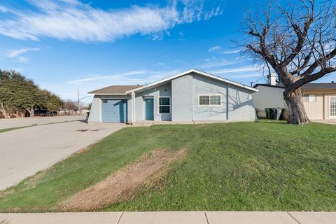
[[[126,99],[102,100],[102,123],[126,123],[127,101]]]

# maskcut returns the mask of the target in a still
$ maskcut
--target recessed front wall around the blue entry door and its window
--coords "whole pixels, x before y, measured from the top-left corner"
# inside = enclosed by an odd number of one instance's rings
[[[136,121],[145,120],[145,97],[153,97],[154,99],[154,120],[172,120],[172,84],[166,83],[157,87],[153,87],[151,90],[144,92],[137,92],[135,97],[135,119]],[[159,97],[170,97],[170,113],[159,113],[158,100]],[[131,109],[129,108],[129,111]],[[132,120],[132,118],[131,118]]]

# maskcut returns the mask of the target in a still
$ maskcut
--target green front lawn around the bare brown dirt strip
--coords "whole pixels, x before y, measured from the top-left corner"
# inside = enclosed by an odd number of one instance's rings
[[[57,211],[57,203],[156,148],[187,155],[132,200],[102,210],[336,211],[335,137],[335,125],[267,120],[127,127],[0,192],[0,211]]]

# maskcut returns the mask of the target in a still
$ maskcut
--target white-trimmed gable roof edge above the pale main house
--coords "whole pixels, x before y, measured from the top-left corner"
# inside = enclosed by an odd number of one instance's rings
[[[172,79],[174,79],[174,78],[179,78],[179,77],[181,77],[181,76],[185,76],[185,75],[188,74],[188,73],[197,73],[197,74],[199,74],[199,75],[201,75],[201,76],[207,76],[207,77],[209,77],[209,78],[214,78],[214,79],[216,79],[216,80],[220,80],[220,81],[222,81],[222,82],[224,82],[224,83],[229,83],[229,84],[232,84],[232,85],[235,85],[235,86],[238,86],[238,87],[242,87],[242,88],[244,88],[244,89],[246,89],[246,90],[251,90],[252,92],[258,92],[257,89],[255,89],[255,88],[253,88],[253,87],[249,87],[248,85],[243,85],[243,84],[241,84],[241,83],[236,83],[236,82],[234,82],[234,81],[232,81],[232,80],[228,80],[228,79],[225,79],[225,78],[221,78],[221,77],[219,77],[219,76],[214,76],[214,75],[212,75],[212,74],[210,74],[210,73],[207,73],[207,72],[204,72],[204,71],[200,71],[200,70],[197,70],[197,69],[190,69],[190,70],[188,70],[188,71],[183,71],[182,73],[178,73],[178,74],[176,74],[176,75],[174,75],[174,76],[169,76],[168,78],[164,78],[164,79],[162,79],[162,80],[158,80],[158,81],[156,81],[156,82],[149,83],[148,85],[143,85],[143,86],[141,86],[141,87],[137,87],[137,88],[132,89],[132,90],[127,90],[126,93],[136,92],[136,91],[139,91],[139,90],[143,90],[143,89],[145,89],[145,88],[148,88],[148,87],[153,87],[153,86],[155,86],[155,85],[158,85],[158,84],[160,84],[160,83],[165,83],[165,82],[167,82],[167,81],[169,81],[169,80],[172,80]]]

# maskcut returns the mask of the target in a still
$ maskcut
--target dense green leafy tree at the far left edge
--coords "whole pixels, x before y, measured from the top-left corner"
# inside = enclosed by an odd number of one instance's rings
[[[13,109],[25,109],[30,117],[34,110],[48,109],[57,111],[62,100],[48,90],[41,90],[33,80],[29,80],[16,71],[0,70],[0,110],[3,116]]]

